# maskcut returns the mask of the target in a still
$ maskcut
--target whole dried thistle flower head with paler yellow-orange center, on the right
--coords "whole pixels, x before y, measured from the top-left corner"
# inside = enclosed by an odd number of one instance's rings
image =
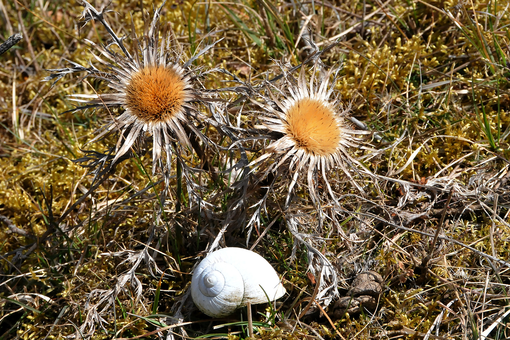
[[[287,73],[283,65],[279,66],[284,74]],[[285,168],[293,172],[293,175],[287,204],[300,174],[306,174],[310,195],[317,203],[319,197],[316,181],[314,184],[317,171],[322,174],[334,200],[337,199],[329,185],[326,175],[328,170],[340,168],[361,192],[363,189],[354,180],[352,172],[369,173],[348,153],[347,148],[359,147],[362,139],[356,136],[368,135],[370,132],[351,128],[344,119],[349,107],[345,107],[341,102],[338,91],[329,86],[331,74],[335,71],[334,84],[340,68],[319,72],[320,75],[317,76],[317,66],[318,63],[313,68],[310,82],[305,79],[304,67],[301,68],[297,81],[292,74],[287,73],[283,84],[274,87],[279,98],[269,85],[265,93],[261,94],[266,103],[263,105],[263,112],[258,115],[262,125],[257,125],[256,128],[266,128],[273,134],[280,133],[282,136],[269,144],[266,152],[251,165],[270,159],[272,164],[266,170],[267,173],[277,172],[284,164],[288,164]]]

